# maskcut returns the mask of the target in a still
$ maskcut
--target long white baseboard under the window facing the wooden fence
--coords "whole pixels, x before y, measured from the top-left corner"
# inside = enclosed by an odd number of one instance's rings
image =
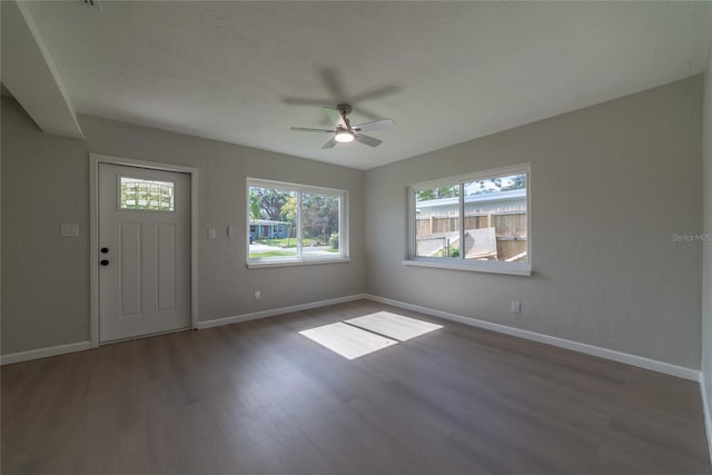
[[[394,307],[406,308],[408,310],[419,311],[425,315],[432,315],[434,317],[445,318],[447,320],[457,321],[473,327],[485,328],[505,335],[531,339],[533,342],[544,343],[547,345],[557,346],[560,348],[571,349],[573,352],[584,353],[586,355],[597,356],[601,358],[611,359],[613,362],[624,363],[626,365],[637,366],[639,368],[650,369],[684,379],[700,382],[701,377],[701,373],[698,369],[671,365],[670,363],[659,362],[655,359],[645,358],[643,356],[631,355],[627,353],[616,352],[614,349],[601,348],[599,346],[593,346],[585,343],[543,335],[535,331],[514,328],[492,321],[479,320],[477,318],[465,317],[457,314],[451,314],[449,311],[442,311],[428,307],[422,307],[419,305],[406,304],[405,301],[393,300],[390,298],[378,297],[375,295],[367,294],[365,298],[378,301],[380,304],[393,305]]]

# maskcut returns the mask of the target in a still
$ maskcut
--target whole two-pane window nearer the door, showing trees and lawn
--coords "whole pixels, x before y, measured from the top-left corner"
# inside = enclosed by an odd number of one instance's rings
[[[348,259],[347,192],[247,179],[248,266]]]

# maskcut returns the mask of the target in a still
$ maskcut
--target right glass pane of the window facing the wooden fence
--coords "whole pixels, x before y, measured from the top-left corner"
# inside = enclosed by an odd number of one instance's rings
[[[464,184],[465,258],[526,263],[526,174]]]

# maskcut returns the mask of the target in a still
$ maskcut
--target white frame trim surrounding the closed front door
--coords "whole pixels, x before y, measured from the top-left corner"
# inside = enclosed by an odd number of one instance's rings
[[[99,346],[99,164],[190,175],[190,327],[198,328],[198,168],[89,154],[89,339]]]

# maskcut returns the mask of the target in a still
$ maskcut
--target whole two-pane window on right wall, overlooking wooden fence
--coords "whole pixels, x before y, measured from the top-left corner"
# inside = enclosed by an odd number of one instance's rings
[[[530,167],[409,187],[407,265],[531,274]]]

